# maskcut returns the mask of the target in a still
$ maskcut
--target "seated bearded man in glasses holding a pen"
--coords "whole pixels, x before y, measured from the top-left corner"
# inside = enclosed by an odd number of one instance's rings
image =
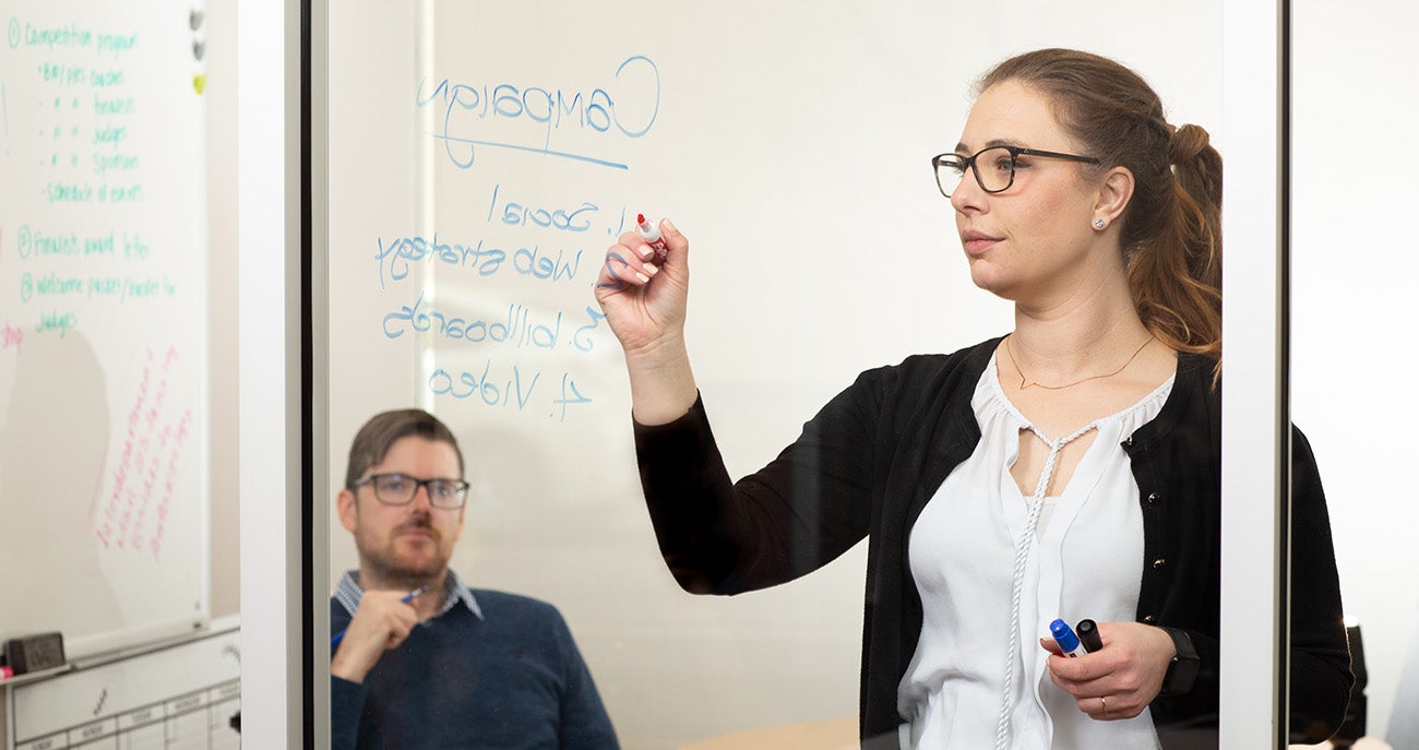
[[[468,483],[433,415],[376,415],[336,504],[359,571],[331,598],[331,746],[616,749],[558,611],[448,570]]]

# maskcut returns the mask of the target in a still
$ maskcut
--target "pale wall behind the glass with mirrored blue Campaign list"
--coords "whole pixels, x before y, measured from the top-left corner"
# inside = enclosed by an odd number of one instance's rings
[[[474,487],[453,568],[562,609],[627,747],[856,714],[866,560],[858,545],[728,599],[670,580],[592,295],[636,214],[690,237],[690,354],[738,476],[860,371],[1009,331],[929,166],[990,64],[1047,45],[1114,55],[1174,122],[1220,128],[1219,4],[1169,18],[1165,38],[1121,1],[969,17],[928,1],[365,1],[329,17],[331,491],[375,412],[444,419]],[[353,544],[335,518],[329,533],[338,577]]]

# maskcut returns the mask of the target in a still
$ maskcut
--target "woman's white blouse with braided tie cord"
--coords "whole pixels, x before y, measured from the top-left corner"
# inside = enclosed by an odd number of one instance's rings
[[[971,402],[981,442],[941,483],[908,540],[924,621],[897,692],[910,719],[904,747],[1158,747],[1148,710],[1110,722],[1080,712],[1050,682],[1039,638],[1050,636],[1054,618],[1134,621],[1144,527],[1120,443],[1158,415],[1172,384],[1094,422],[1098,433],[1063,494],[1032,514],[1036,499],[1020,491],[1010,467],[1022,435],[1042,438],[1022,433],[1034,428],[1000,391],[992,358]],[[1071,436],[1043,439],[1063,447]]]

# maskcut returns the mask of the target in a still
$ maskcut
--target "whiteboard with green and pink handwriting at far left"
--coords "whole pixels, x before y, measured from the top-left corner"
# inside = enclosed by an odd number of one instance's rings
[[[0,14],[0,638],[201,626],[204,3]]]

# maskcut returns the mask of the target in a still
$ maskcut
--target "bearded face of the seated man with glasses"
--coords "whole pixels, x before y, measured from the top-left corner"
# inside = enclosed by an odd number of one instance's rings
[[[365,476],[389,473],[410,479],[461,479],[453,446],[413,435],[396,440]],[[336,503],[341,523],[355,534],[363,588],[413,588],[443,578],[463,534],[463,507],[433,507],[429,487],[419,487],[406,506],[390,506],[376,499],[369,483],[353,491],[341,490]]]

